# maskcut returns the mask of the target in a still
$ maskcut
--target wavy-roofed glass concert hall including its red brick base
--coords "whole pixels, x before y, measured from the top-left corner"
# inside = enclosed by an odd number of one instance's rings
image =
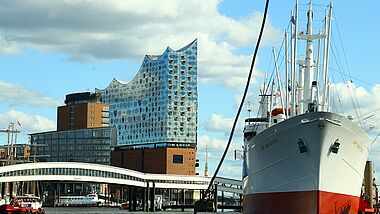
[[[118,147],[111,165],[142,172],[195,175],[197,40],[146,55],[129,83],[96,89],[109,104]]]

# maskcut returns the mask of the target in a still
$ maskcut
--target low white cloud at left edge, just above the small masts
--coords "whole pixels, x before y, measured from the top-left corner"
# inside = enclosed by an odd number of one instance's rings
[[[21,126],[18,126],[17,121],[20,122]],[[41,115],[30,115],[13,109],[0,113],[1,129],[7,129],[11,122],[15,123],[15,126],[17,126],[18,130],[21,130],[23,134],[52,131],[56,129],[55,121],[51,121]]]

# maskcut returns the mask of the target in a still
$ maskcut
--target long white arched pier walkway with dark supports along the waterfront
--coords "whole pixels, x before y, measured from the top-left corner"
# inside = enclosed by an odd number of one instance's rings
[[[67,190],[73,193],[77,184],[99,183],[105,187],[105,194],[99,197],[103,197],[109,204],[127,203],[130,211],[155,211],[193,208],[194,201],[199,200],[207,189],[210,178],[141,173],[119,167],[78,162],[40,162],[0,167],[0,189],[3,198],[7,195],[7,190],[9,197],[12,197],[14,190],[18,189],[16,186],[24,186],[32,181],[56,182],[53,187],[54,198],[58,198]],[[67,182],[72,182],[72,186]],[[46,191],[42,185],[29,187],[33,188],[39,188],[35,192]],[[214,190],[214,211],[241,209],[241,181],[218,177],[214,182]]]

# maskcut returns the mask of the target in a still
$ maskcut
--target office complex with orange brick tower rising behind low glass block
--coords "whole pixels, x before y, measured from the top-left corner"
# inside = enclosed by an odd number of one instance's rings
[[[90,92],[68,94],[65,104],[57,109],[57,131],[29,134],[38,161],[109,165],[116,138],[108,104]]]

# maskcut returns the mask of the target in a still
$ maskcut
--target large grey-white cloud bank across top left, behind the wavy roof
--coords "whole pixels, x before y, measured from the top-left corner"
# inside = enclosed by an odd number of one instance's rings
[[[237,88],[245,82],[262,13],[233,19],[219,0],[14,0],[0,2],[0,29],[17,47],[64,52],[75,60],[134,59],[198,38],[199,80]],[[69,14],[69,15],[68,15]],[[262,43],[280,32],[267,20]],[[257,74],[257,71],[254,72]]]

